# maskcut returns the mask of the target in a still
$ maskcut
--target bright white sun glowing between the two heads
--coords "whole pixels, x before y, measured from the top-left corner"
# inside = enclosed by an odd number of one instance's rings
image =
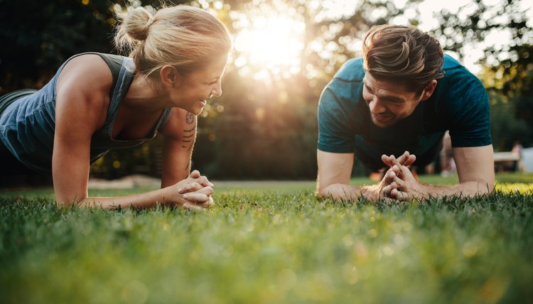
[[[279,9],[279,8],[278,8]],[[234,64],[239,74],[256,80],[279,80],[300,72],[306,26],[296,11],[260,8],[234,13]]]

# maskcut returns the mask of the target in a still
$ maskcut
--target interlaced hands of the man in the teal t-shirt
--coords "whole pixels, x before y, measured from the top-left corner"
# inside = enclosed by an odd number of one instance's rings
[[[423,185],[419,183],[409,170],[409,165],[416,161],[416,156],[405,151],[402,156],[382,155],[383,163],[389,166],[381,183],[379,183],[379,199],[407,201],[423,197]]]

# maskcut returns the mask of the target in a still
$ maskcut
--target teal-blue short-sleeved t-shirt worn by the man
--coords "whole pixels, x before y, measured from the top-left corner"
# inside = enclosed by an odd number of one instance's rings
[[[362,98],[362,58],[348,60],[325,87],[318,104],[318,149],[353,153],[367,167],[382,168],[382,154],[404,151],[424,156],[438,151],[446,130],[453,147],[487,146],[490,139],[488,95],[480,80],[457,60],[444,55],[444,77],[429,99],[406,119],[380,128],[372,123]],[[415,163],[416,164],[416,163]]]

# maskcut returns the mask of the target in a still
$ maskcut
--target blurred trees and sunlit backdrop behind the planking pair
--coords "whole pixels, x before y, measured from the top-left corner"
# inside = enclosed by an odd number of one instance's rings
[[[382,23],[418,26],[490,96],[495,151],[533,145],[533,4],[513,0],[200,0],[235,38],[222,97],[199,117],[193,168],[221,179],[316,178],[322,89]],[[150,0],[0,0],[0,94],[40,88],[71,55],[113,48],[116,11]],[[127,55],[127,54],[122,54]],[[91,176],[158,176],[161,139],[107,154]],[[436,160],[438,162],[438,160]],[[438,173],[439,165],[436,165]],[[364,175],[355,164],[354,175]]]

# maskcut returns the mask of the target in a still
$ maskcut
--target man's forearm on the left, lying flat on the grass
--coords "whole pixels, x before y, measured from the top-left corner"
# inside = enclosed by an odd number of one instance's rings
[[[355,187],[345,184],[333,184],[318,190],[318,195],[323,198],[332,198],[333,200],[354,201],[359,197],[365,197],[367,200],[378,200],[378,185],[367,185]]]

